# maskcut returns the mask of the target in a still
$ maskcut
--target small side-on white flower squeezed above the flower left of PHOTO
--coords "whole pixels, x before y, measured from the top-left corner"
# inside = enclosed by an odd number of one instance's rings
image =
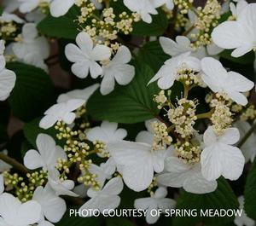
[[[63,181],[60,179],[60,172],[52,169],[48,172],[49,186],[55,191],[56,195],[68,195],[79,196],[71,191],[74,188],[74,182],[72,180]]]

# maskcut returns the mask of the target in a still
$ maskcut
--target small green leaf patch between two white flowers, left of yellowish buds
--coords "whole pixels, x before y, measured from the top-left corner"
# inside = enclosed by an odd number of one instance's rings
[[[41,118],[33,119],[32,121],[26,123],[23,127],[23,133],[26,137],[26,140],[30,142],[30,144],[33,146],[33,148],[37,148],[36,140],[38,137],[38,134],[44,133],[48,134],[49,136],[52,136],[55,139],[56,136],[56,130],[54,127],[49,128],[48,130],[44,130],[39,127],[39,122]]]

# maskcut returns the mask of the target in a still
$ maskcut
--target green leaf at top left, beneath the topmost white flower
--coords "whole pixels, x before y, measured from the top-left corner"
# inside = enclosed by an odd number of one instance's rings
[[[78,14],[78,8],[73,6],[67,14],[61,17],[48,15],[38,24],[38,31],[49,37],[74,39],[79,33],[78,25],[74,21]]]

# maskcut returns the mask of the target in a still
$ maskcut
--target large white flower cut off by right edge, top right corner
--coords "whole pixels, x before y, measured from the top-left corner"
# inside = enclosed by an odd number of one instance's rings
[[[256,48],[256,3],[243,4],[235,21],[224,21],[214,28],[212,40],[224,49],[235,49],[232,56],[239,57]]]

